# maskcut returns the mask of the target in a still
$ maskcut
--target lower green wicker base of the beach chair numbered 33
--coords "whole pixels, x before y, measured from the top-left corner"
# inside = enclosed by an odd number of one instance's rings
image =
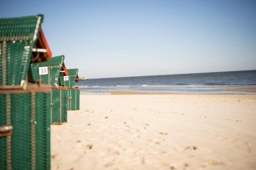
[[[59,86],[57,88],[52,88],[50,94],[50,114],[51,114],[51,123],[65,123],[67,122],[67,87]]]

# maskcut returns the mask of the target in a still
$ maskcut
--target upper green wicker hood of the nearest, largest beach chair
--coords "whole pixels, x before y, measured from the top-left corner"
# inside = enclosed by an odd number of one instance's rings
[[[51,51],[41,30],[43,15],[0,18],[0,85],[24,85],[30,62],[47,61]]]

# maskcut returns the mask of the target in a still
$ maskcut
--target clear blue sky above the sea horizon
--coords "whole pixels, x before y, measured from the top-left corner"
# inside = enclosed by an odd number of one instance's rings
[[[256,1],[2,1],[87,78],[256,69]]]

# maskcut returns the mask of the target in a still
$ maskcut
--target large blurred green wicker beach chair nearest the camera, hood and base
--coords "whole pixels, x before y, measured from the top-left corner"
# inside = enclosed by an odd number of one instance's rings
[[[0,169],[50,169],[49,85],[27,82],[51,51],[43,15],[0,18]]]

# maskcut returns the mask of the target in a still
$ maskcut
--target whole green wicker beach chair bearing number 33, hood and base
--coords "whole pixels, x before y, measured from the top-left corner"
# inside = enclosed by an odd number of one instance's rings
[[[50,94],[51,123],[67,122],[67,89],[59,86],[59,76],[68,76],[68,71],[63,63],[64,56],[52,57],[51,60],[32,63],[29,69],[29,81],[41,82],[52,86]]]

